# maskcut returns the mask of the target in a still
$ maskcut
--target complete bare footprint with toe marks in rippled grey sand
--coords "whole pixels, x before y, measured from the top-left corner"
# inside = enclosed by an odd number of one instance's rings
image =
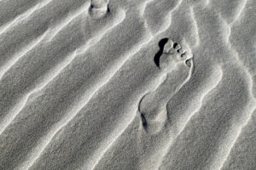
[[[165,126],[168,119],[166,105],[189,81],[194,67],[193,55],[172,40],[166,42],[156,63],[159,63],[162,82],[153,92],[143,96],[138,108],[147,133],[158,133]]]

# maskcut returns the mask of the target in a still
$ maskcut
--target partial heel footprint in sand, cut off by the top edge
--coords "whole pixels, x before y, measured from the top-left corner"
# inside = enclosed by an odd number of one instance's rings
[[[108,0],[90,0],[89,14],[91,17],[98,19],[108,14]]]

